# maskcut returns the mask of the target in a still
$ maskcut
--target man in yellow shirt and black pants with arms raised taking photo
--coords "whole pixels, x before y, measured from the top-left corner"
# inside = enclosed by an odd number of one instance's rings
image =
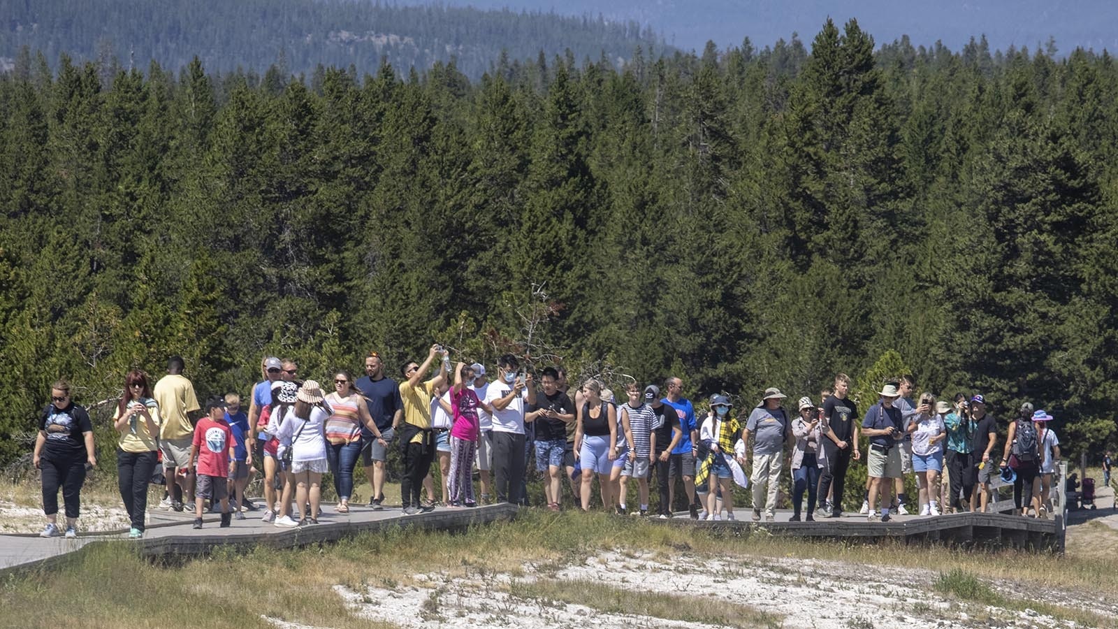
[[[443,353],[438,374],[421,382],[424,374],[430,369],[435,356]],[[420,501],[423,479],[430,471],[430,462],[435,458],[435,433],[430,430],[430,398],[436,388],[446,381],[448,358],[438,345],[430,346],[427,359],[423,365],[415,360],[404,364],[404,377],[400,383],[400,400],[404,402],[404,422],[398,431],[399,448],[404,463],[404,478],[400,479],[400,500],[404,513],[413,515],[427,513],[435,507],[424,507]],[[396,426],[394,426],[396,428]]]

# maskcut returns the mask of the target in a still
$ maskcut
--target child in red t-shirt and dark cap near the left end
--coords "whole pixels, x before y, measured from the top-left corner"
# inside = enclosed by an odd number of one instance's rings
[[[221,526],[230,525],[228,478],[233,458],[233,431],[225,421],[225,400],[211,397],[206,402],[206,415],[195,426],[195,441],[190,447],[190,466],[198,462],[198,485],[195,489],[195,528],[202,527],[202,507],[206,499],[221,501]]]

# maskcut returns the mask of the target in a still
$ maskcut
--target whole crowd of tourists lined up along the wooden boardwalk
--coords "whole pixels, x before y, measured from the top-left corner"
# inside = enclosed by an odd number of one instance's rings
[[[260,509],[275,526],[318,524],[328,472],[338,497],[332,508],[348,513],[359,461],[371,488],[368,508],[383,509],[392,448],[406,515],[439,504],[527,505],[528,466],[534,461],[546,501],[540,506],[551,510],[563,508],[568,496],[571,505],[591,509],[597,484],[603,508],[648,516],[654,477],[660,518],[673,517],[682,486],[691,518],[733,519],[738,485],[751,489],[751,519],[773,522],[787,473],[793,522],[814,520],[816,513],[836,518],[851,462],[864,456],[861,514],[870,522],[888,522],[891,514],[985,511],[998,476],[1013,484],[1016,513],[1046,517],[1060,461],[1059,440],[1048,428],[1052,416],[1044,411],[1021,406],[998,448],[998,422],[982,394],[923,393],[913,401],[911,375],[885,382],[864,413],[849,397],[845,374],[835,376],[818,403],[805,395],[792,405],[771,387],[743,410],[724,394],[697,409],[683,396],[680,377],[644,386],[629,382],[618,402],[596,377],[571,387],[561,366],[533,374],[504,355],[490,379],[484,365],[452,364],[435,345],[424,360],[401,365],[399,381],[372,351],[362,377],[337,370],[329,393],[314,379],[300,379],[295,362],[265,357],[246,412],[236,393],[199,404],[184,367],[181,357],[171,357],[154,384],[142,370],[129,372],[115,405],[119,487],[131,537],[144,534],[149,485],[160,473],[167,487],[160,508],[192,509],[196,528],[207,508],[220,513],[221,527]],[[89,415],[65,381],[54,384],[40,416],[34,462],[48,520],[41,535],[75,536],[80,489],[97,460]],[[257,475],[260,505],[245,496]],[[904,490],[908,475],[917,496]],[[435,478],[442,481],[439,497]],[[59,489],[65,527],[57,522]]]

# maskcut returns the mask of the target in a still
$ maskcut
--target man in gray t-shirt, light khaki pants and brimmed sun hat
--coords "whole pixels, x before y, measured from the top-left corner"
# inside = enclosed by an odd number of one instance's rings
[[[741,440],[749,445],[754,435],[754,468],[749,479],[754,484],[754,522],[761,519],[761,501],[765,501],[765,519],[776,517],[776,494],[780,487],[780,470],[784,468],[784,445],[792,439],[792,422],[780,407],[787,397],[779,388],[765,389],[765,400],[754,409],[741,431]],[[766,495],[767,494],[767,495]]]

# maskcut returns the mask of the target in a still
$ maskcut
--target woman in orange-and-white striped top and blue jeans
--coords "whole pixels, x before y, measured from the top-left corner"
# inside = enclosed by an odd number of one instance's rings
[[[383,447],[383,438],[377,430],[377,423],[369,414],[369,405],[353,385],[349,372],[334,374],[334,392],[326,396],[331,409],[326,417],[326,460],[330,471],[334,475],[334,491],[338,492],[338,513],[349,513],[349,499],[353,494],[353,468],[361,456],[361,424],[364,424],[377,442]]]

